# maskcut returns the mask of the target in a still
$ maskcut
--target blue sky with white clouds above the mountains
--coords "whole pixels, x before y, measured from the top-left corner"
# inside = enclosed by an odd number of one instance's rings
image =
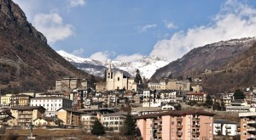
[[[80,57],[169,60],[207,43],[256,36],[256,1],[14,0],[50,47]]]

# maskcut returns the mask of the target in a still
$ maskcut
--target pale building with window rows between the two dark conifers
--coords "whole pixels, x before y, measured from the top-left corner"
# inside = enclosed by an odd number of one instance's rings
[[[105,126],[107,131],[119,132],[121,127],[124,125],[126,115],[127,113],[125,112],[101,115],[102,125]]]

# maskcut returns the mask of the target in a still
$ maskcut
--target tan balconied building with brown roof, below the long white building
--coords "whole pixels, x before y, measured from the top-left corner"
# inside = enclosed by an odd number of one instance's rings
[[[33,120],[44,116],[45,109],[42,106],[24,106],[11,109],[12,115],[15,117],[15,126],[29,127]]]

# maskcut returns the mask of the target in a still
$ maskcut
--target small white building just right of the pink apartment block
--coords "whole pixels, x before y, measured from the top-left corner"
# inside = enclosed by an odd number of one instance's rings
[[[224,136],[236,136],[237,122],[230,120],[214,120],[213,135],[218,135],[218,132]]]

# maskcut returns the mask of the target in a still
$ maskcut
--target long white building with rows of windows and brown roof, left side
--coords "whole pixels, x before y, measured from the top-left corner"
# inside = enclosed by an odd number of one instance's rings
[[[43,106],[46,109],[45,115],[54,116],[58,109],[71,109],[72,101],[63,97],[31,98],[30,106]]]

